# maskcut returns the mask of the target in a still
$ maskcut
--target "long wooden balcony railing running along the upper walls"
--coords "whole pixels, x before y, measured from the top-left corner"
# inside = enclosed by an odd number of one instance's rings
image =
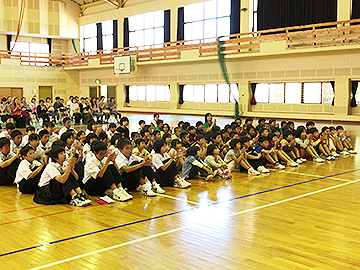
[[[258,53],[261,43],[274,41],[286,41],[287,50],[360,44],[360,19],[277,28],[221,38],[225,41],[225,55]],[[10,58],[19,59],[21,65],[81,67],[88,66],[90,59],[100,59],[100,65],[113,64],[114,56],[118,55],[135,55],[138,62],[180,59],[181,52],[193,49],[199,50],[199,57],[217,56],[217,39],[184,40],[64,54],[0,51],[0,61],[1,58]]]

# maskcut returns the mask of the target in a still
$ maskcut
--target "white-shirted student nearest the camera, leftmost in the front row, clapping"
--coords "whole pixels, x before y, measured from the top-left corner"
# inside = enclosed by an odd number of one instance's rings
[[[46,165],[35,192],[34,202],[40,204],[68,204],[86,206],[91,203],[81,192],[75,172],[76,157],[72,153],[66,161],[65,150],[55,146],[49,152],[51,161]]]

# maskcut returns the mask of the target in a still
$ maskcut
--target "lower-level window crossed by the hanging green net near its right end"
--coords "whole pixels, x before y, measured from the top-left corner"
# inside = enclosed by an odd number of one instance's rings
[[[229,103],[239,100],[237,84],[185,85],[184,102]]]

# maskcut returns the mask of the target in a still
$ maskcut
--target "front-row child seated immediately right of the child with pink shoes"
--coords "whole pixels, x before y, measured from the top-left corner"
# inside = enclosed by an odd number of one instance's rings
[[[240,167],[245,168],[248,171],[248,174],[259,175],[260,173],[256,171],[250,164],[247,162],[245,157],[245,148],[241,147],[240,139],[234,139],[230,142],[231,150],[226,153],[224,161],[226,162],[229,171],[240,171]]]

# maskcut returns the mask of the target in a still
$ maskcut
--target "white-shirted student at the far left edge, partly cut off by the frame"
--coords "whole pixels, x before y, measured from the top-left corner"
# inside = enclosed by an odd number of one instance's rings
[[[20,150],[15,154],[10,151],[10,140],[0,138],[0,186],[14,183],[16,170],[20,163]]]

